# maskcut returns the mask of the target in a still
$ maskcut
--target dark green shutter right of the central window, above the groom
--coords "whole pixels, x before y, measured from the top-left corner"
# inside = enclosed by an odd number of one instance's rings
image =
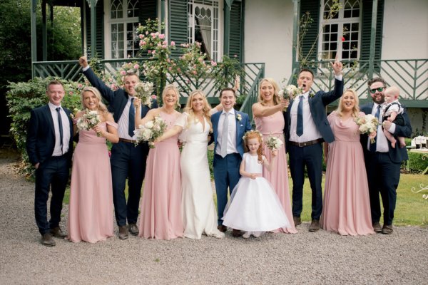
[[[243,62],[243,39],[244,39],[244,9],[243,1],[233,1],[230,9],[230,58],[237,56]]]

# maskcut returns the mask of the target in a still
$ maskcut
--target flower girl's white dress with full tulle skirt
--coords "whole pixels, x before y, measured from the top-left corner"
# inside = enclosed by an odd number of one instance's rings
[[[258,162],[258,156],[247,152],[243,160],[246,172],[260,174],[263,172],[263,165]],[[223,224],[245,232],[267,232],[290,227],[280,199],[263,177],[255,179],[240,177],[226,206]]]

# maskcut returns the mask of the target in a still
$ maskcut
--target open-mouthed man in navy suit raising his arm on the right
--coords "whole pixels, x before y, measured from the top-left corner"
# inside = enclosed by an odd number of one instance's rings
[[[292,215],[295,226],[301,224],[305,166],[312,189],[312,222],[310,232],[320,229],[322,212],[322,142],[332,142],[335,136],[327,121],[325,106],[340,98],[343,93],[342,63],[331,63],[335,71],[335,89],[330,92],[310,93],[314,74],[302,69],[297,85],[302,94],[290,101],[286,117],[285,138],[290,154],[292,178]]]

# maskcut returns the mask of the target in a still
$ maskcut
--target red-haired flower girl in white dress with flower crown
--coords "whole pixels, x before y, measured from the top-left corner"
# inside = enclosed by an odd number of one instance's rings
[[[233,189],[225,209],[223,224],[233,229],[245,231],[243,237],[261,234],[282,227],[290,227],[290,222],[272,189],[262,176],[263,165],[270,170],[269,162],[263,155],[262,137],[256,130],[244,135],[245,152],[240,165],[240,180]],[[272,150],[272,160],[276,150]]]

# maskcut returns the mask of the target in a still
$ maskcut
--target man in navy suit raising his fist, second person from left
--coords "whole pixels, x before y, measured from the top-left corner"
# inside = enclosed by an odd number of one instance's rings
[[[113,91],[93,73],[86,57],[79,58],[83,68],[83,74],[93,87],[100,90],[101,95],[108,101],[108,110],[113,113],[113,118],[118,123],[119,142],[111,148],[111,178],[113,182],[113,203],[116,214],[116,222],[119,227],[119,238],[127,239],[128,232],[138,235],[137,219],[138,206],[140,204],[141,186],[146,173],[146,158],[148,144],[140,143],[134,146],[136,136],[135,109],[133,96],[136,95],[134,87],[140,81],[136,73],[127,73],[124,76],[124,88]],[[152,108],[158,108],[156,100]],[[149,108],[141,107],[141,118]],[[126,178],[128,178],[128,202],[125,197]],[[128,221],[128,227],[126,222]]]

